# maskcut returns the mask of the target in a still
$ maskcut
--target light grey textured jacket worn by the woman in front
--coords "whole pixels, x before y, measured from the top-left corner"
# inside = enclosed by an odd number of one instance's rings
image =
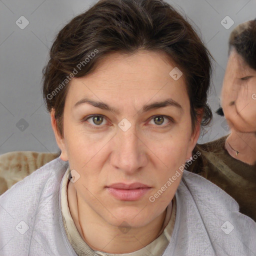
[[[76,255],[60,208],[67,167],[58,157],[0,196],[1,256]],[[175,195],[176,219],[163,256],[256,255],[256,223],[223,190],[184,170]]]

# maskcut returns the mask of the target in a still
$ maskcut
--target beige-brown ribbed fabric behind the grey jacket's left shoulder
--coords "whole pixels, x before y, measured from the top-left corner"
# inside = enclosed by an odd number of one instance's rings
[[[0,155],[0,195],[59,153],[13,151]]]

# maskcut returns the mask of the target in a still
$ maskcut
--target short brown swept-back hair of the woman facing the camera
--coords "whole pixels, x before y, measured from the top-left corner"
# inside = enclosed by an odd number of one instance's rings
[[[189,22],[162,0],[99,0],[59,31],[43,69],[43,97],[47,110],[55,110],[61,136],[70,76],[93,72],[100,59],[111,52],[134,54],[140,49],[167,53],[183,72],[192,131],[197,109],[203,109],[201,128],[210,122],[211,55]]]

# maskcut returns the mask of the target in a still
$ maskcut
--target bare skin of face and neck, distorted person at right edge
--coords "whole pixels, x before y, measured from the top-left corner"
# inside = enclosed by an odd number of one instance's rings
[[[228,153],[247,164],[256,163],[256,70],[232,49],[228,58],[221,105],[231,133]],[[238,152],[238,153],[237,153]]]

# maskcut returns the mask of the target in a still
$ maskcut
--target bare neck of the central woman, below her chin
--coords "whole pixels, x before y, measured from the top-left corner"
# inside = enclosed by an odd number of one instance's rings
[[[113,226],[91,209],[68,182],[67,198],[70,214],[82,239],[93,250],[107,253],[129,253],[145,247],[156,239],[162,228],[166,209],[142,227]]]

